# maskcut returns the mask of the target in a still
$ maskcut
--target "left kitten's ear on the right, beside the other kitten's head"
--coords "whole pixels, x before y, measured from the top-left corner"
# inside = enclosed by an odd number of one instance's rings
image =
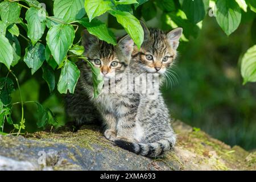
[[[134,47],[133,39],[129,35],[125,35],[118,41],[118,47],[125,56],[130,56]]]

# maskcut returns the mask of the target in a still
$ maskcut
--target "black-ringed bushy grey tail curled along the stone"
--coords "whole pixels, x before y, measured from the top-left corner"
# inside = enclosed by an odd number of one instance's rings
[[[172,138],[160,139],[154,143],[134,143],[125,140],[115,140],[114,142],[117,146],[135,154],[150,158],[159,158],[175,146],[176,137],[174,135]]]

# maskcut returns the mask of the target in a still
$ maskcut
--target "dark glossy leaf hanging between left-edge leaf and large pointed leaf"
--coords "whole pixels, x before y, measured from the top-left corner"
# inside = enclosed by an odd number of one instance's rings
[[[24,62],[27,64],[28,68],[31,68],[32,75],[42,66],[44,60],[46,60],[44,49],[44,45],[41,43],[36,43],[35,46],[30,44],[26,48]]]

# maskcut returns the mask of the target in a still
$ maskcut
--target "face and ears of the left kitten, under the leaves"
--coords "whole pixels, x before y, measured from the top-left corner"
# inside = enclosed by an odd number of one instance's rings
[[[87,33],[82,38],[85,56],[95,67],[100,68],[100,74],[105,80],[120,77],[126,71],[133,51],[133,44],[133,40],[129,36],[119,40],[117,46],[98,40],[95,36]]]

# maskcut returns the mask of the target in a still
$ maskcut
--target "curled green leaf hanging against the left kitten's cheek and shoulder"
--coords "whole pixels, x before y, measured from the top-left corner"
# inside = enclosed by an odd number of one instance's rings
[[[92,69],[93,91],[94,91],[94,97],[96,98],[98,97],[98,94],[100,94],[101,89],[104,85],[104,79],[100,74],[101,73],[100,68],[95,67],[87,59],[86,59],[86,62],[90,65],[90,69]]]

